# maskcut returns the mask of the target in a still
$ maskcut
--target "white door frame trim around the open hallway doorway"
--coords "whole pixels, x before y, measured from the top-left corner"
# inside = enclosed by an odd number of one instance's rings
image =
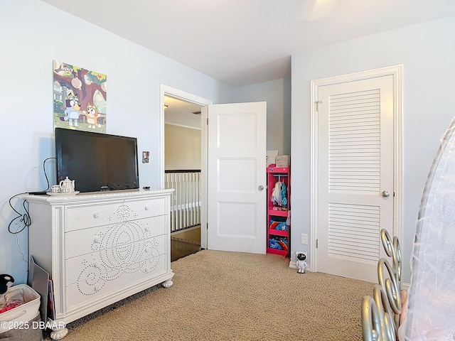
[[[213,101],[205,99],[203,97],[184,92],[167,85],[160,85],[160,100],[159,100],[159,126],[160,126],[160,139],[159,139],[159,150],[160,150],[160,188],[164,188],[164,96],[169,95],[177,99],[181,99],[186,102],[194,104],[200,104],[201,107],[205,107],[208,104],[212,104]],[[207,124],[202,124],[207,121],[207,113],[201,110],[201,124],[200,124],[200,247],[207,249],[207,229],[203,228],[207,226]]]

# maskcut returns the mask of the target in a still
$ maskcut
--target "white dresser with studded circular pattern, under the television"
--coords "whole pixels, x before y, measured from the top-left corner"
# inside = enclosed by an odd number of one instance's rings
[[[55,319],[63,327],[127,296],[172,286],[170,197],[173,190],[24,195],[29,254],[53,280]]]

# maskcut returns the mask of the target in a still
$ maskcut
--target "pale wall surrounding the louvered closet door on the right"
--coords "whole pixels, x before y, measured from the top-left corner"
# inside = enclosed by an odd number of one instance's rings
[[[454,32],[455,17],[451,17],[292,56],[293,251],[302,248],[297,236],[310,232],[310,81],[402,64],[404,232],[400,242],[403,281],[409,283],[412,239],[424,183],[439,139],[455,114]]]

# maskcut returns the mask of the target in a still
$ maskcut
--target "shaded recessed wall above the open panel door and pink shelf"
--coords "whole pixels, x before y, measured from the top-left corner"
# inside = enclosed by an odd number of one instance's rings
[[[291,153],[291,78],[237,87],[232,102],[267,102],[267,151]]]

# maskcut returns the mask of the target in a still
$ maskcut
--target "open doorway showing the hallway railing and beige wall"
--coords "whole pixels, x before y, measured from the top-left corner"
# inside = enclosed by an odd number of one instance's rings
[[[206,248],[205,121],[201,107],[211,101],[161,87],[162,188],[171,201],[171,261]]]

